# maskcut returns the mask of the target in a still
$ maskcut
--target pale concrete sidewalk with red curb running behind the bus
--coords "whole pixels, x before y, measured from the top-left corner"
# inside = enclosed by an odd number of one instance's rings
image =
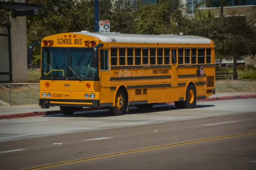
[[[255,92],[236,92],[236,93],[218,93],[210,96],[208,99],[201,99],[198,101],[214,101],[214,100],[228,100],[228,99],[247,99],[256,98]],[[173,104],[168,102],[166,104]],[[102,110],[106,108],[84,108],[83,111]],[[49,109],[42,109],[38,105],[17,105],[17,106],[0,106],[0,119],[13,119],[30,116],[44,116],[50,114],[61,113],[59,107],[50,107]]]

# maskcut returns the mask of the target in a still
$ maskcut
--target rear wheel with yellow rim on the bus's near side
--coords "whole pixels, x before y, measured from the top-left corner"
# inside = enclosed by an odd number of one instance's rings
[[[186,100],[183,102],[183,108],[187,108],[187,109],[195,108],[195,103],[196,103],[195,86],[193,84],[189,84],[186,89]]]

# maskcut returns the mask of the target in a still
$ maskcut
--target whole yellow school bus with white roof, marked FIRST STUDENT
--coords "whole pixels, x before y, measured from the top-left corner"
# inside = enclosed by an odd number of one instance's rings
[[[175,102],[194,108],[215,93],[212,40],[197,36],[91,33],[55,34],[41,45],[39,105],[63,114],[83,107],[151,108]]]

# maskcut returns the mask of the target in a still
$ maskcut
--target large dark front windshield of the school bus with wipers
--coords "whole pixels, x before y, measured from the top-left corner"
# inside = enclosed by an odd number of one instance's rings
[[[98,65],[93,62],[93,48],[42,48],[42,76],[98,77]]]

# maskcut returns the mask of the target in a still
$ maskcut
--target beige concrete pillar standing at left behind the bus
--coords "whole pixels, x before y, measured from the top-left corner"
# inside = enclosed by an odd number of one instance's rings
[[[25,3],[25,0],[19,2]],[[12,82],[27,82],[26,17],[9,17],[11,22]]]

